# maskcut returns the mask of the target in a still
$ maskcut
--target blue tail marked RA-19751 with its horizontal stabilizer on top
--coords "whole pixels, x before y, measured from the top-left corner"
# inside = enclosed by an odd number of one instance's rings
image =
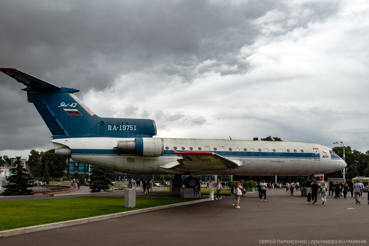
[[[151,119],[101,118],[73,93],[13,68],[0,71],[23,83],[28,101],[33,103],[53,136],[147,138],[156,135]]]

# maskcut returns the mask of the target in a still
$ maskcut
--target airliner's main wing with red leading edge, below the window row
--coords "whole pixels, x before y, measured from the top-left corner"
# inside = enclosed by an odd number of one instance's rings
[[[180,166],[175,167],[178,170],[204,170],[204,169],[233,169],[239,167],[240,164],[233,160],[227,159],[221,155],[208,151],[184,151],[172,153],[182,157],[178,159]]]

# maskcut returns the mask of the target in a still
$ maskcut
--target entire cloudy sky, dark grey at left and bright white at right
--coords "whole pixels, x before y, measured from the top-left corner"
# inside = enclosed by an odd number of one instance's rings
[[[0,67],[157,137],[369,149],[368,1],[0,0]],[[47,150],[23,84],[0,74],[0,154]]]

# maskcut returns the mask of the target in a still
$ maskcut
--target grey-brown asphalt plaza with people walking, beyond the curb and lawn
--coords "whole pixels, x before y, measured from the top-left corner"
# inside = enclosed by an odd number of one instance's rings
[[[91,194],[60,197],[82,195]],[[123,196],[124,192],[93,195]],[[349,195],[347,199],[329,196],[325,205],[318,197],[318,204],[313,205],[299,195],[300,192],[290,196],[284,190],[271,190],[267,191],[267,201],[260,201],[257,193],[248,194],[241,197],[239,209],[232,207],[231,196],[223,196],[221,200],[1,238],[0,243],[7,246],[70,243],[89,246],[261,245],[260,240],[275,240],[273,245],[304,245],[277,243],[277,240],[366,240],[361,245],[368,244],[369,205],[366,193],[361,204],[355,204]]]

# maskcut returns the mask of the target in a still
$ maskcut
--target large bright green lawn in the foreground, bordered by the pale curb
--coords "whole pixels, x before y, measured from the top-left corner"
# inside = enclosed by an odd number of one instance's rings
[[[0,231],[193,200],[196,198],[137,197],[135,208],[125,208],[124,197],[0,201]]]

